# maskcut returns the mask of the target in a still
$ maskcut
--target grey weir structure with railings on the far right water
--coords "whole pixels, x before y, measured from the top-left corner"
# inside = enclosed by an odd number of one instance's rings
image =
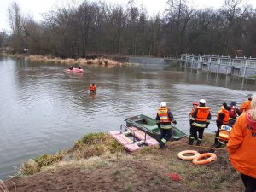
[[[167,61],[168,59],[165,58]],[[256,75],[256,58],[219,55],[181,55],[182,67],[201,69],[214,73],[230,74],[240,77]]]

